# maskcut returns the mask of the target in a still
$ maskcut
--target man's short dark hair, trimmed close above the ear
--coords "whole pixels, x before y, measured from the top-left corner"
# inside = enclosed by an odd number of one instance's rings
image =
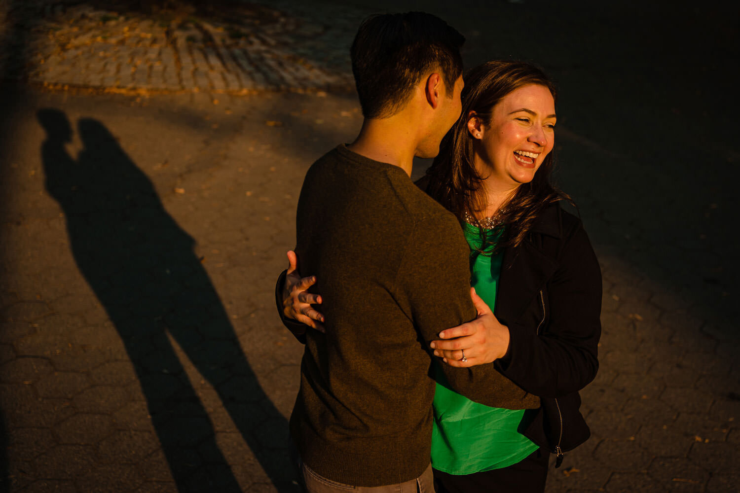
[[[465,37],[424,12],[366,18],[354,36],[352,72],[365,118],[387,118],[403,107],[420,78],[439,70],[448,97],[462,73]]]

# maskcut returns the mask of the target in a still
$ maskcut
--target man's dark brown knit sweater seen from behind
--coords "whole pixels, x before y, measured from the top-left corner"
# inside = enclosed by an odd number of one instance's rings
[[[317,276],[326,316],[325,334],[306,333],[290,420],[301,458],[355,486],[420,476],[434,398],[428,343],[476,314],[457,219],[403,169],[342,145],[306,174],[296,252],[300,271]],[[498,404],[492,364],[443,367],[457,392]]]

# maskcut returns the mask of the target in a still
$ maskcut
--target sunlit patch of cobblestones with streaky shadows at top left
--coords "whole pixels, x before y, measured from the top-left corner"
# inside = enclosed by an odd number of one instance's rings
[[[118,92],[351,86],[346,39],[366,11],[336,9],[331,23],[320,23],[315,14],[306,18],[301,10],[278,10],[280,2],[269,5],[245,3],[228,18],[203,19],[189,10],[150,18],[84,4],[24,4],[17,9],[33,13],[24,15],[32,41],[24,47],[25,63],[6,78]]]

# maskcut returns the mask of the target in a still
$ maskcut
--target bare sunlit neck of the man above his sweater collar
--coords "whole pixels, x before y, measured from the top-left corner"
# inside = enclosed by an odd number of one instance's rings
[[[351,152],[398,166],[411,176],[417,149],[417,126],[403,112],[390,118],[366,118],[360,135],[347,146]]]

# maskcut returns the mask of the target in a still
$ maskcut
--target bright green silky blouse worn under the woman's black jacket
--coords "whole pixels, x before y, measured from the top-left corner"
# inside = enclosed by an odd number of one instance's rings
[[[465,239],[471,250],[480,248],[478,228],[465,224]],[[489,233],[491,234],[491,233]],[[494,238],[500,237],[501,231]],[[494,310],[501,272],[502,254],[473,253],[471,285]],[[440,363],[443,364],[443,363]],[[445,387],[444,375],[434,367],[434,426],[431,435],[431,465],[451,475],[468,475],[511,466],[530,455],[537,446],[517,432],[524,409],[501,409],[473,402]]]

